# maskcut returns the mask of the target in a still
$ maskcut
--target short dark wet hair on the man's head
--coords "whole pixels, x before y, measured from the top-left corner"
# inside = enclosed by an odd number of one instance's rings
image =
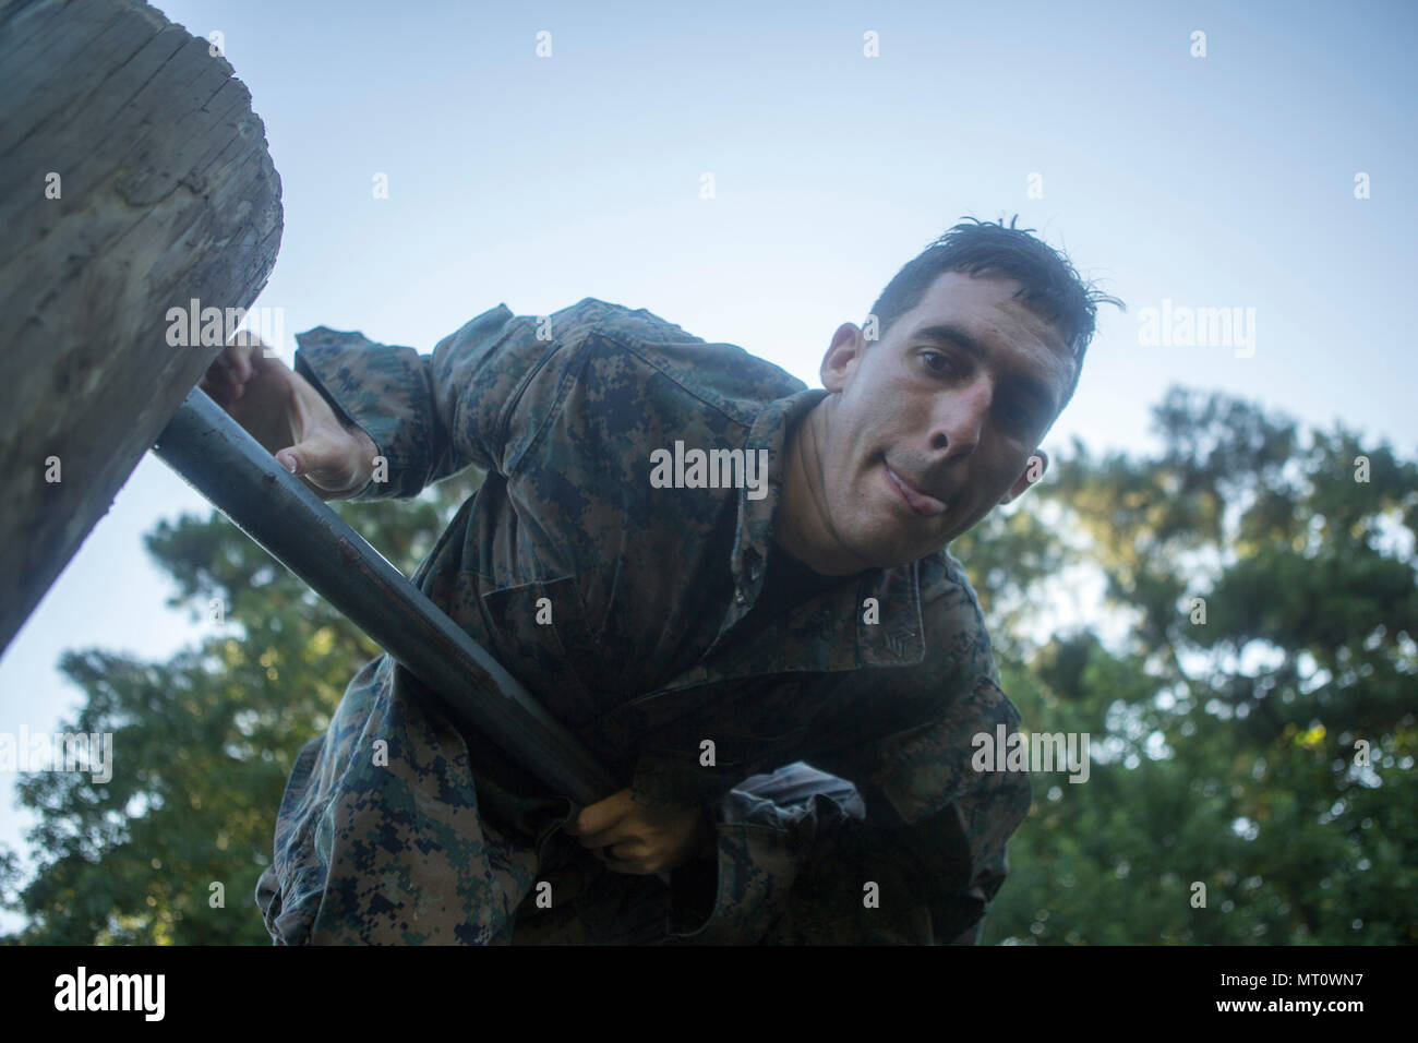
[[[886,336],[892,324],[920,304],[926,289],[947,271],[1018,280],[1022,285],[1015,297],[1058,328],[1073,356],[1073,382],[1059,403],[1062,412],[1078,387],[1083,353],[1093,339],[1098,305],[1115,304],[1123,309],[1126,305],[1085,282],[1068,257],[1029,234],[1034,228],[1014,227],[1018,220],[1015,214],[1005,227],[1003,217],[997,223],[961,219],[960,224],[896,272],[872,305],[872,315],[876,316],[878,338]]]

